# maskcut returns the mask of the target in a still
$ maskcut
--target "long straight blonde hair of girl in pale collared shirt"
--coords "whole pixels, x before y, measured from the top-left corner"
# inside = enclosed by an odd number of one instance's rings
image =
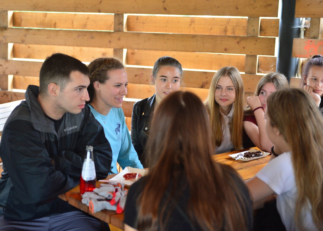
[[[236,150],[242,149],[242,120],[243,120],[243,104],[244,104],[244,88],[240,72],[235,67],[223,67],[218,70],[210,85],[207,99],[204,102],[206,109],[210,115],[211,127],[214,133],[214,144],[220,146],[222,144],[222,124],[223,117],[220,113],[221,107],[214,100],[216,85],[222,76],[228,76],[233,82],[235,90],[235,100],[233,107],[233,118],[230,124],[231,141]]]

